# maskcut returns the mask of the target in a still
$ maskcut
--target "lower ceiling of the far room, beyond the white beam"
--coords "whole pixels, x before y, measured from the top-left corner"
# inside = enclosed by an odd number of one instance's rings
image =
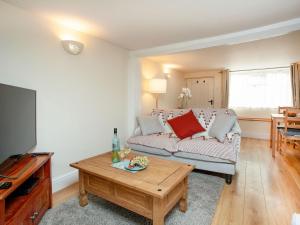
[[[280,37],[197,51],[148,57],[185,73],[288,66],[300,61],[300,31]]]

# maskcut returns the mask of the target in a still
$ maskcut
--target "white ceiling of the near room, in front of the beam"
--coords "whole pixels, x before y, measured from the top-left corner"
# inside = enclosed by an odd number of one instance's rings
[[[136,50],[211,37],[300,17],[299,0],[5,0]],[[84,27],[82,25],[81,27]]]

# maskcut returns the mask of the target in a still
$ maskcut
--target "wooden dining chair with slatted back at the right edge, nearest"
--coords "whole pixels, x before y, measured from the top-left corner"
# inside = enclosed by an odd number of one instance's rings
[[[287,108],[284,116],[284,128],[279,130],[277,146],[280,152],[287,148],[287,142],[294,147],[300,144],[300,109]]]

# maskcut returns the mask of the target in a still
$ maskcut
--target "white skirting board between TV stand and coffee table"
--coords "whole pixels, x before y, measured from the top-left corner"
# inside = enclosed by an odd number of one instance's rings
[[[73,170],[52,179],[52,192],[57,192],[78,181],[78,171]]]

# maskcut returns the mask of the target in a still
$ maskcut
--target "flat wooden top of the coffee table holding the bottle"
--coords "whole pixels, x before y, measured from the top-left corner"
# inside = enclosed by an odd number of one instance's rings
[[[127,158],[136,155],[138,154],[130,153]],[[148,167],[137,173],[112,167],[111,152],[72,163],[70,166],[159,198],[167,195],[194,169],[193,165],[154,156],[147,157]]]

